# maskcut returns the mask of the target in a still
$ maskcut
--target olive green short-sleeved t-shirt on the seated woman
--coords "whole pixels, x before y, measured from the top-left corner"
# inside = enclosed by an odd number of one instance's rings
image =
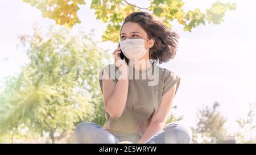
[[[139,72],[139,79],[134,79],[136,77],[136,69],[131,65],[129,65],[129,68],[129,87],[125,109],[118,119],[111,118],[108,112],[105,111],[106,121],[103,128],[110,133],[136,133],[142,136],[148,125],[150,125],[152,117],[156,114],[163,94],[170,90],[175,83],[177,83],[176,95],[180,85],[180,77],[171,70],[152,64],[152,67],[147,72]],[[106,65],[100,70],[99,82],[102,93],[103,72],[107,72],[114,82],[118,82],[120,73],[115,64]],[[158,78],[156,78],[156,75],[158,75]]]

